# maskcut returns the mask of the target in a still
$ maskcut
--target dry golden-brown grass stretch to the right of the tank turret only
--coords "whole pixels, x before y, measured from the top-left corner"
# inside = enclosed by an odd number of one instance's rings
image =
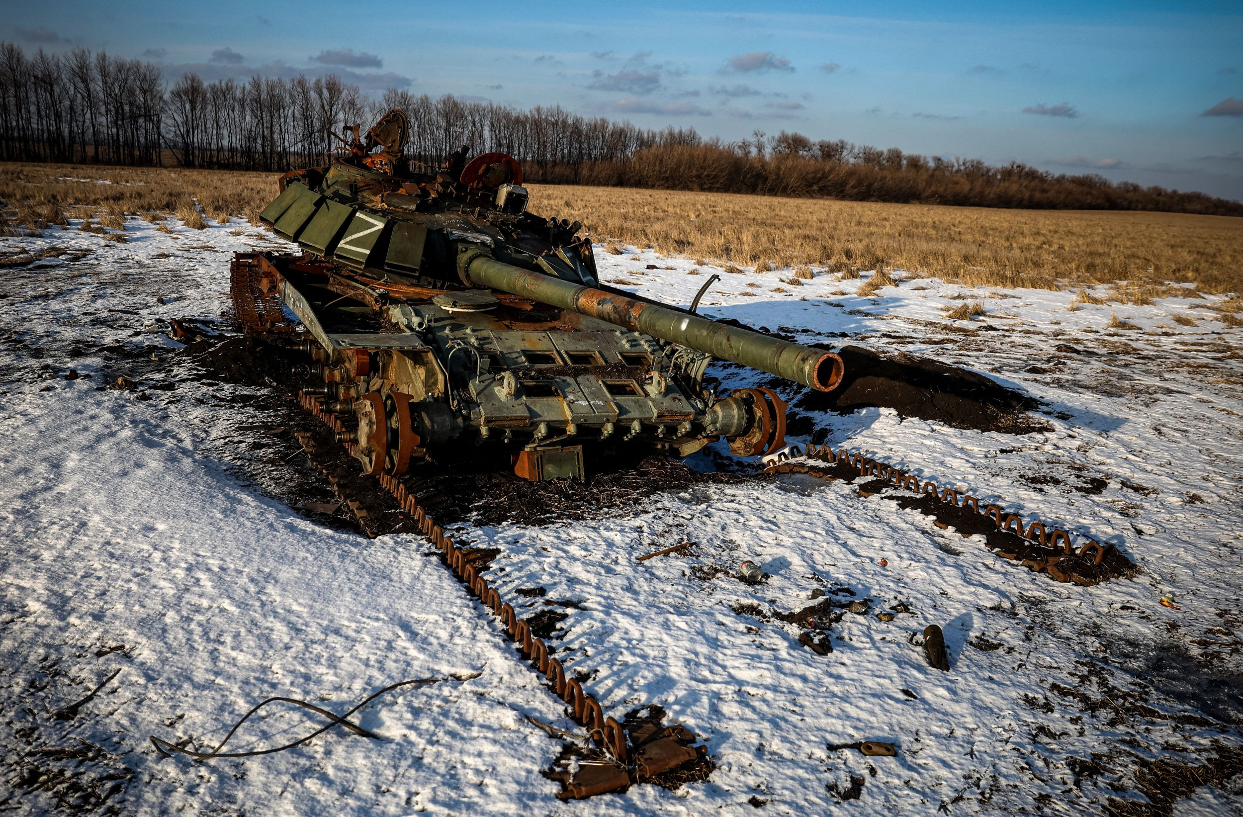
[[[531,192],[533,211],[577,219],[597,240],[651,242],[663,252],[743,266],[773,260],[853,277],[884,265],[1004,287],[1175,281],[1204,292],[1243,290],[1243,219],[1227,216],[572,185],[531,185]]]

